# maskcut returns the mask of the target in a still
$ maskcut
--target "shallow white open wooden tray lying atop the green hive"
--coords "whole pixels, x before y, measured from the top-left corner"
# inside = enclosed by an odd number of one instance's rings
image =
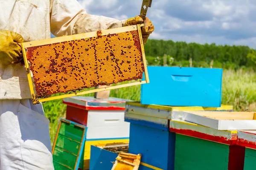
[[[183,120],[218,130],[256,130],[253,112],[194,112],[183,113]]]

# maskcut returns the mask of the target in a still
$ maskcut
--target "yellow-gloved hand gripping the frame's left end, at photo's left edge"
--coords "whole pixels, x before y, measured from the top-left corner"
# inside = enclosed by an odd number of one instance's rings
[[[22,62],[22,50],[18,43],[23,37],[13,31],[0,31],[0,63],[4,65]]]

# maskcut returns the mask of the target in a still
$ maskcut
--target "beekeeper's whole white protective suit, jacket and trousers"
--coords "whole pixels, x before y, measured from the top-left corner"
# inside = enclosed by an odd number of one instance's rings
[[[0,0],[0,30],[25,41],[122,27],[87,14],[77,0]],[[49,120],[33,105],[24,66],[0,61],[0,170],[53,170]]]

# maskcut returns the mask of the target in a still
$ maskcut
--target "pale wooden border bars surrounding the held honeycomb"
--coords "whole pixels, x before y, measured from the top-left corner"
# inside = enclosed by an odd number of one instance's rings
[[[147,70],[147,64],[146,64],[146,58],[145,58],[145,50],[144,50],[142,32],[141,32],[141,27],[142,26],[144,26],[144,24],[138,24],[138,25],[134,25],[134,26],[125,26],[125,27],[121,27],[121,28],[112,28],[112,29],[102,30],[101,36],[108,35],[108,34],[122,33],[122,32],[126,32],[126,31],[138,31],[139,37],[140,37],[140,46],[141,46],[141,53],[142,53],[142,58],[143,58],[143,66],[144,66],[144,71],[143,71],[144,76],[145,76],[144,81],[140,80],[140,81],[137,81],[137,82],[131,82],[131,83],[126,83],[126,84],[122,84],[122,85],[105,87],[105,88],[97,88],[97,89],[78,92],[78,93],[73,93],[73,94],[64,94],[64,95],[60,95],[60,96],[50,96],[48,98],[43,98],[43,99],[37,99],[36,98],[36,93],[35,93],[36,91],[34,91],[31,71],[29,70],[29,62],[28,62],[28,59],[26,57],[26,48],[35,47],[35,46],[39,46],[39,45],[46,45],[46,44],[64,42],[64,41],[70,41],[70,40],[79,40],[79,39],[84,39],[84,38],[97,37],[97,31],[83,33],[83,34],[62,36],[62,37],[55,37],[55,38],[46,39],[46,40],[38,40],[38,41],[20,43],[20,45],[22,47],[22,53],[23,53],[23,58],[24,58],[24,62],[25,62],[25,68],[26,68],[26,72],[27,72],[29,88],[30,88],[33,104],[38,104],[39,102],[47,102],[47,101],[55,100],[55,99],[63,99],[63,98],[66,98],[66,97],[79,96],[79,95],[83,95],[83,94],[90,94],[90,93],[96,93],[96,92],[100,92],[100,91],[107,91],[107,90],[112,90],[112,89],[117,89],[117,88],[124,88],[124,87],[128,87],[128,86],[141,85],[141,84],[149,83],[148,70]]]

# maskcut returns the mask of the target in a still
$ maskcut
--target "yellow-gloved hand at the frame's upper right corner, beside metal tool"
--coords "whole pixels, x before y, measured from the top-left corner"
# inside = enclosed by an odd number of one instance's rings
[[[124,26],[132,26],[137,24],[144,23],[144,26],[142,28],[142,38],[144,45],[146,44],[149,35],[154,31],[154,25],[152,24],[151,20],[149,20],[147,17],[143,21],[143,19],[140,16],[132,17],[125,21]]]

